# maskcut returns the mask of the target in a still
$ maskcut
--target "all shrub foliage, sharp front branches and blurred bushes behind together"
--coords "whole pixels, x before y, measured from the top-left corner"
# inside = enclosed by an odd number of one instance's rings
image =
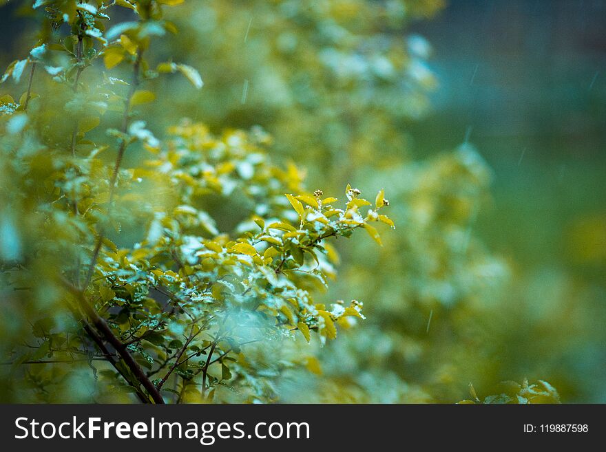
[[[3,399],[452,402],[500,380],[477,320],[510,275],[474,234],[490,169],[469,144],[410,153],[437,81],[406,27],[442,5],[35,2],[0,116]]]

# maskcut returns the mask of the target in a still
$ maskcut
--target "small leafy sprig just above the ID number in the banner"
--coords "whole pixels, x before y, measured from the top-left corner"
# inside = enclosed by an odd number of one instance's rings
[[[515,381],[501,383],[501,394],[487,396],[480,399],[473,385],[469,385],[471,399],[461,400],[461,404],[484,404],[484,403],[517,403],[521,405],[534,403],[560,403],[560,396],[556,388],[546,381],[539,380],[537,383],[528,383],[523,380],[522,384]]]

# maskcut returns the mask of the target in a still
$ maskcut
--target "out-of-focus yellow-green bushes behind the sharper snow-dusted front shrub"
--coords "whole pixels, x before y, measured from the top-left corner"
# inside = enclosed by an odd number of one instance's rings
[[[504,362],[486,359],[512,341],[487,324],[516,327],[505,315],[494,320],[510,312],[512,268],[475,233],[490,200],[490,168],[470,144],[425,161],[411,155],[410,121],[428,111],[437,80],[430,43],[406,28],[442,7],[439,0],[211,0],[169,12],[205,43],[191,49],[172,40],[169,50],[204,65],[206,82],[203,99],[179,94],[179,79],[158,87],[174,100],[169,108],[211,124],[262,122],[277,151],[305,164],[327,191],[350,181],[365,192],[388,185],[390,217],[404,226],[380,252],[364,240],[339,249],[343,271],[326,297],[351,291],[373,300],[369,320],[318,352],[322,378],[292,376],[313,389],[282,400],[452,402],[461,398],[460,382],[510,378]]]

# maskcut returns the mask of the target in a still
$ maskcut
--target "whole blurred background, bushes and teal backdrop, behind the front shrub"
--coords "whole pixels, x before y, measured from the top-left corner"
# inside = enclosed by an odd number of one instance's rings
[[[15,12],[0,15],[5,64],[35,41]],[[368,320],[317,351],[322,377],[281,378],[284,401],[454,402],[469,383],[486,396],[529,378],[564,402],[606,402],[605,12],[566,0],[169,11],[180,33],[154,61],[174,55],[205,87],[152,82],[157,136],[182,116],[261,125],[309,189],[349,182],[391,201],[384,248],[339,246],[326,294],[364,301]]]

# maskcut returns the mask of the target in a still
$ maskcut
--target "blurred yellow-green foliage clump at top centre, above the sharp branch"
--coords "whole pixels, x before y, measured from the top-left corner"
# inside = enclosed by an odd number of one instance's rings
[[[355,166],[392,159],[406,149],[404,126],[428,109],[437,85],[426,59],[430,45],[405,36],[415,19],[442,0],[211,0],[186,3],[171,20],[205,45],[169,43],[207,65],[206,102],[171,87],[170,107],[187,108],[211,125],[260,122],[276,149],[297,151],[326,169],[313,182],[339,183]],[[229,74],[233,83],[224,83]],[[176,80],[178,83],[178,80]],[[306,162],[308,163],[308,162]],[[332,189],[339,189],[333,182]]]

